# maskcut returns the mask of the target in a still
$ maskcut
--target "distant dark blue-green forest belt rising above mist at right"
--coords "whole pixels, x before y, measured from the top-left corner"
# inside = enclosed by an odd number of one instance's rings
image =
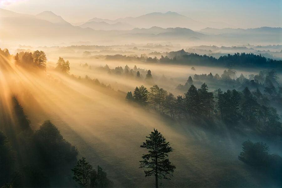
[[[276,69],[278,72],[282,71],[282,60],[273,60],[266,58],[262,55],[255,55],[253,53],[234,53],[234,55],[228,54],[220,56],[218,59],[208,55],[199,55],[196,53],[188,53],[183,49],[170,52],[169,56],[161,55],[161,58],[151,58],[145,55],[138,56],[126,56],[126,55],[106,55],[106,60],[139,60],[147,62],[160,62],[170,64],[183,64],[183,65],[202,65],[202,66],[217,66],[217,67],[228,67],[228,68],[270,68]]]

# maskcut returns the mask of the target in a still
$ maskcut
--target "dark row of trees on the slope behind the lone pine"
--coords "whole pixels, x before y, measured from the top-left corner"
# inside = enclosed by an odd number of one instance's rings
[[[199,89],[193,84],[183,96],[175,97],[159,86],[154,85],[150,91],[146,87],[136,87],[126,95],[126,101],[153,107],[161,114],[180,120],[198,120],[213,122],[218,119],[235,128],[240,121],[258,133],[281,141],[281,123],[274,107],[260,104],[259,89],[253,93],[245,87],[242,92],[235,89],[226,92],[217,89],[208,91],[203,83]],[[240,123],[239,123],[240,124]]]

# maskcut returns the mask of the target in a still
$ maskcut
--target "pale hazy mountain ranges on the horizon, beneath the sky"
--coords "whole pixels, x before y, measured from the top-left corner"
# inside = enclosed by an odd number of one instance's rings
[[[107,23],[109,22],[107,19],[102,20],[93,18],[79,27],[71,25],[61,16],[50,11],[34,16],[0,9],[1,41],[3,44],[11,44],[13,40],[17,44],[30,44],[32,38],[37,39],[33,40],[33,44],[44,41],[46,45],[67,41],[89,41],[91,44],[99,43],[101,45],[108,42],[124,44],[133,41],[137,43],[173,41],[175,43],[193,43],[192,45],[195,45],[195,41],[200,45],[209,45],[210,42],[216,42],[218,45],[234,44],[234,42],[235,44],[269,44],[270,42],[279,44],[282,41],[281,28],[205,28],[196,32],[191,30],[190,26],[202,23],[173,12],[150,13],[136,18],[119,18],[110,23]]]

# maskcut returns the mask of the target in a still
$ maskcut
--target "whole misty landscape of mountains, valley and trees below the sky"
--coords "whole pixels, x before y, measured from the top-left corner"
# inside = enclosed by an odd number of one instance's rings
[[[281,187],[281,27],[0,24],[1,187]]]

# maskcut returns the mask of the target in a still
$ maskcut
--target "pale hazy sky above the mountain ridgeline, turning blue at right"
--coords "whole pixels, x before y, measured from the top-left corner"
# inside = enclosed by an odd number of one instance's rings
[[[146,13],[177,12],[198,21],[226,22],[234,27],[282,26],[282,0],[0,0],[18,13],[52,11],[70,23],[93,17],[117,19]]]

